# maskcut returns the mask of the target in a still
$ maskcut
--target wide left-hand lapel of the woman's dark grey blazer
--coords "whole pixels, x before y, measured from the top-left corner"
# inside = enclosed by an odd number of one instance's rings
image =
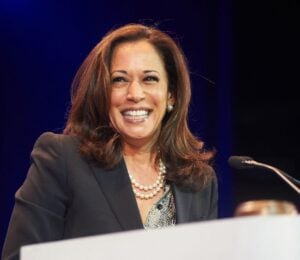
[[[143,228],[124,160],[112,170],[93,167],[95,177],[124,230]]]

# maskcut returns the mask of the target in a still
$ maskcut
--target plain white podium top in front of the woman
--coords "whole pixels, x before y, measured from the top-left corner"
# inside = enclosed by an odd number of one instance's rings
[[[299,260],[300,217],[236,217],[21,248],[21,260],[50,259]]]

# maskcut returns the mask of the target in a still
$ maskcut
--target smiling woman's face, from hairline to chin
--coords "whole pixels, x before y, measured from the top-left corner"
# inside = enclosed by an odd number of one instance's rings
[[[141,40],[119,44],[110,67],[112,126],[123,143],[155,143],[167,104],[173,104],[163,60]]]

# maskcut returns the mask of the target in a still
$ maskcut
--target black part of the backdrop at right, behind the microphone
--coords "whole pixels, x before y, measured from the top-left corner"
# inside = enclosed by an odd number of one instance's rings
[[[300,179],[299,4],[252,1],[234,5],[234,152]],[[235,173],[235,205],[244,200],[300,200],[282,180],[261,170]]]

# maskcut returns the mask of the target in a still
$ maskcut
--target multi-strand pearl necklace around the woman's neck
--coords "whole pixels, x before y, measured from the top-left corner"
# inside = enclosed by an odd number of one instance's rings
[[[135,196],[139,199],[152,199],[164,187],[165,175],[166,166],[161,160],[159,160],[159,174],[156,181],[151,185],[142,185],[138,183],[131,174],[129,174]]]

